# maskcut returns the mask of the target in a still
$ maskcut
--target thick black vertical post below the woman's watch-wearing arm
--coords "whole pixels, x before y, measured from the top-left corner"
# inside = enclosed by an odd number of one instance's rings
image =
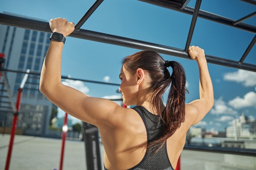
[[[83,138],[85,142],[87,169],[101,170],[98,128],[86,122],[83,122],[83,128],[84,128]]]

